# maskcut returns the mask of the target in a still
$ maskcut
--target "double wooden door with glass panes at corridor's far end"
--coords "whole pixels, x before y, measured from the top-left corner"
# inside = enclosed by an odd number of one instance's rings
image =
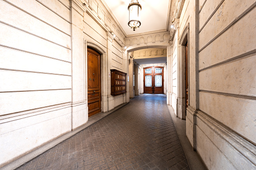
[[[144,68],[144,93],[163,94],[164,93],[164,68],[146,67]]]

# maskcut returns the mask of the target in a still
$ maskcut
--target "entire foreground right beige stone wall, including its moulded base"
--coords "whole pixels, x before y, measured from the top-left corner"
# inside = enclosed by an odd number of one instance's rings
[[[198,3],[189,2],[186,134],[209,169],[253,169],[256,4]]]

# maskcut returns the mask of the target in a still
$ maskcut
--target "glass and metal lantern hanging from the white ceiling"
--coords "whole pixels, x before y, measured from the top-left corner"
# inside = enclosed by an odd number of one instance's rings
[[[128,6],[129,11],[129,22],[128,25],[134,31],[141,26],[141,5],[138,0],[135,3],[134,0],[131,1],[131,4]]]

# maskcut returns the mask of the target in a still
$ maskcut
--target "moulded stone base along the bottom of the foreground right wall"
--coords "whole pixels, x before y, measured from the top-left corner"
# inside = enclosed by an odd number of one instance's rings
[[[196,117],[197,151],[209,169],[212,164],[225,169],[256,169],[256,146],[253,143],[202,111],[198,111]],[[205,137],[207,139],[200,139]],[[204,151],[211,146],[218,149],[218,155]]]

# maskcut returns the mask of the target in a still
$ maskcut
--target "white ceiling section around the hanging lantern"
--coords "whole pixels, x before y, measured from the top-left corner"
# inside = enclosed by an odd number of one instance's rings
[[[126,35],[165,30],[168,17],[168,0],[139,0],[142,6],[141,27],[133,31],[128,26],[128,5],[131,0],[104,0]],[[136,0],[135,0],[136,2]]]

